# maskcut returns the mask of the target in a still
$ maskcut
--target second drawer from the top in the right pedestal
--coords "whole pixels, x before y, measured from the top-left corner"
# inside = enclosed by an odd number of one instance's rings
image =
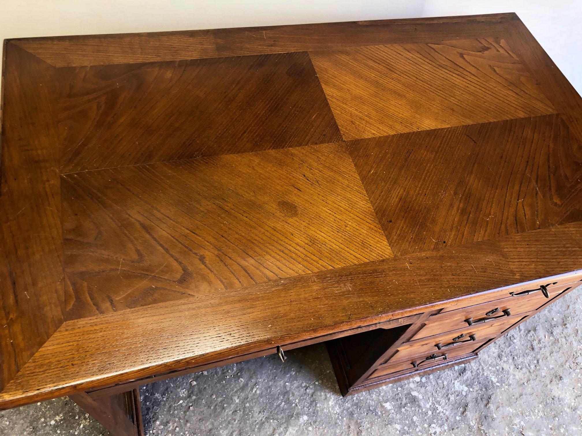
[[[481,303],[450,312],[441,312],[431,316],[425,326],[411,340],[427,338],[446,331],[459,330],[459,328],[488,324],[511,315],[531,312],[541,308],[553,297],[576,285],[577,283],[569,283],[547,288],[549,298],[546,298],[540,290],[525,290],[497,301]]]

